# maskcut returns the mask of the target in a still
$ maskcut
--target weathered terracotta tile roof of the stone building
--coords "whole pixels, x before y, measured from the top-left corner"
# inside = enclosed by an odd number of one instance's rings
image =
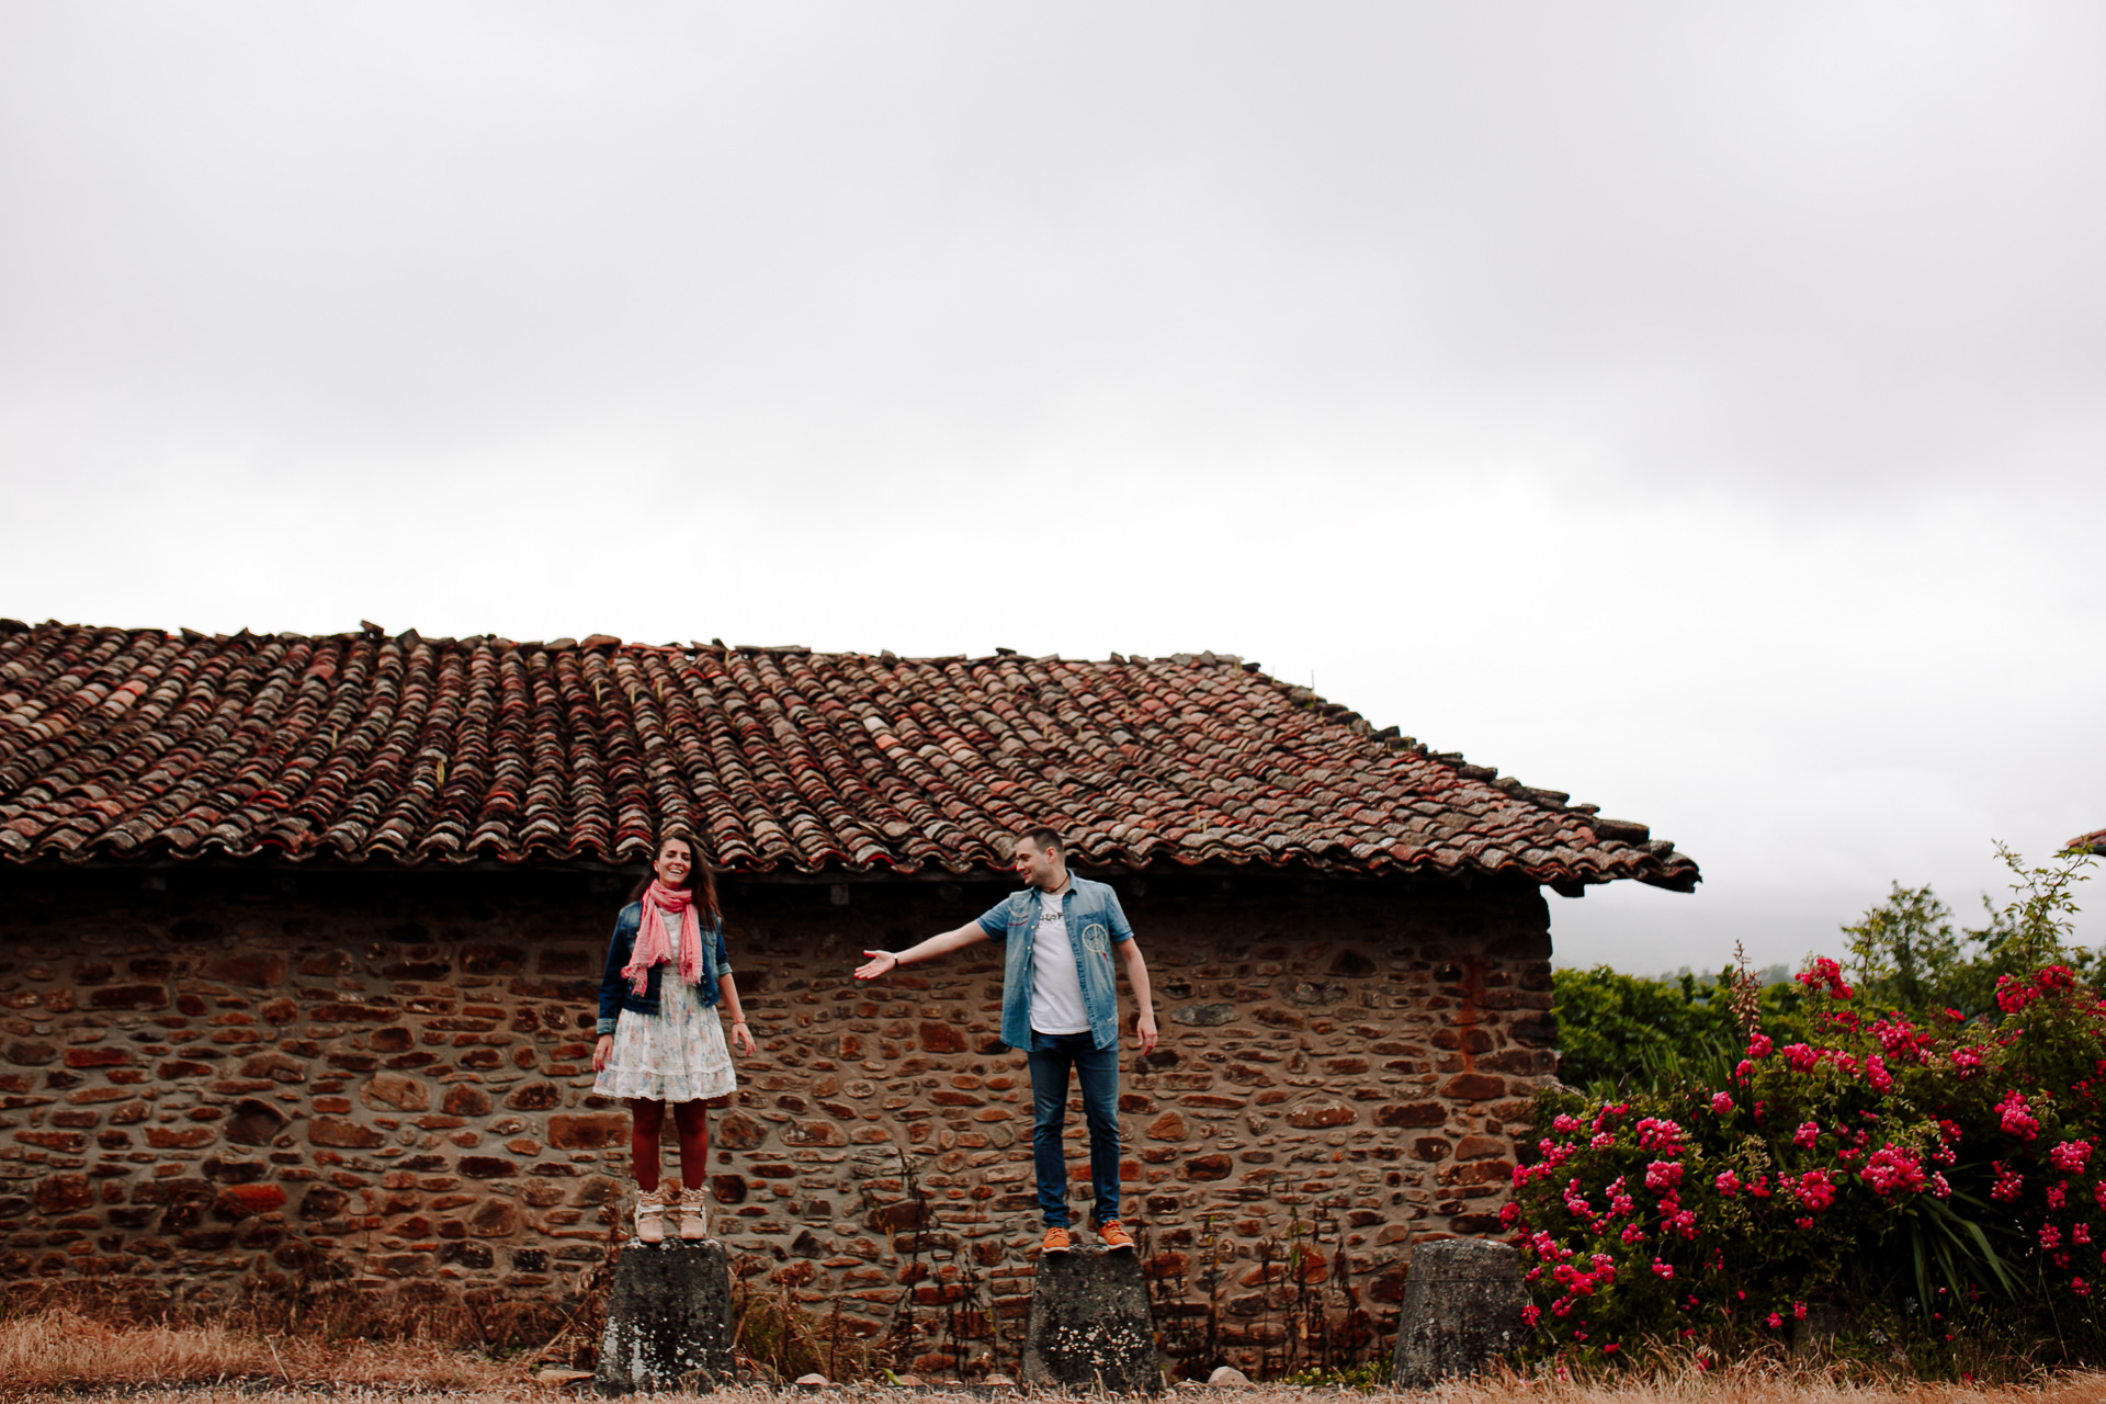
[[[0,631],[17,863],[632,863],[672,821],[727,869],[967,874],[1053,823],[1082,865],[1697,880],[1645,825],[1215,655]]]

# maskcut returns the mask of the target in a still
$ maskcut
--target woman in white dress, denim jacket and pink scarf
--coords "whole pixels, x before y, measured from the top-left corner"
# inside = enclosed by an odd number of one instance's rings
[[[592,1050],[592,1090],[621,1097],[634,1118],[636,1238],[665,1238],[665,1210],[680,1206],[680,1238],[710,1236],[703,1181],[710,1168],[710,1107],[729,1107],[737,1090],[718,1002],[731,1010],[731,1038],[752,1057],[754,1036],[739,1010],[739,987],[724,951],[716,880],[687,834],[659,840],[655,878],[630,892],[615,918],[600,977],[600,1042]],[[659,1132],[672,1103],[680,1137],[680,1196],[659,1181]]]

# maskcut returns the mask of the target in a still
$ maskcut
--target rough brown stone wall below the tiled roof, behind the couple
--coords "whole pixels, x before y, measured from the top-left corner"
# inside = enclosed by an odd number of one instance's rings
[[[1542,897],[1114,882],[1163,1021],[1120,1122],[1169,1345],[1249,1360],[1310,1292],[1392,1330],[1415,1236],[1495,1231],[1554,1065]],[[882,987],[849,970],[1000,892],[724,892],[760,1057],[712,1126],[718,1231],[842,1332],[912,1316],[925,1370],[1021,1330],[1028,1074],[996,1038],[996,947]],[[628,1116],[590,1095],[621,897],[585,874],[0,874],[0,1280],[575,1292],[628,1187]],[[1080,1206],[1078,1107],[1070,1137]]]

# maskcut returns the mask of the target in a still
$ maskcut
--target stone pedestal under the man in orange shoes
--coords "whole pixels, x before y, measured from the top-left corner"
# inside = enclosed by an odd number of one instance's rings
[[[1036,1389],[1163,1391],[1148,1284],[1131,1248],[1038,1259],[1021,1375]]]

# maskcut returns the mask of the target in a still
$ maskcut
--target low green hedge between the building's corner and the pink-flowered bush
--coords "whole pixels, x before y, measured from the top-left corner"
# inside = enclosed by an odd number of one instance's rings
[[[1598,1097],[1666,1090],[1687,1080],[1714,1086],[1740,1059],[1740,1025],[1729,996],[1731,968],[1697,983],[1622,975],[1609,966],[1552,972],[1558,1017],[1558,1078]],[[1796,1027],[1799,985],[1761,994],[1763,1021]]]

